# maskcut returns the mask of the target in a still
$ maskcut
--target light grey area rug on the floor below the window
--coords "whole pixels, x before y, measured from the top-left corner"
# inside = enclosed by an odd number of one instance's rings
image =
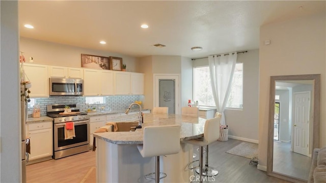
[[[257,158],[258,159],[258,144],[251,142],[241,142],[239,145],[226,151],[226,153],[245,157],[245,158]]]

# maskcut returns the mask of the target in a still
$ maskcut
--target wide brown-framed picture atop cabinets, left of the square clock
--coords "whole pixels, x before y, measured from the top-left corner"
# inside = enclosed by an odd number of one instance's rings
[[[90,54],[82,54],[82,67],[90,69],[110,70],[110,58]]]

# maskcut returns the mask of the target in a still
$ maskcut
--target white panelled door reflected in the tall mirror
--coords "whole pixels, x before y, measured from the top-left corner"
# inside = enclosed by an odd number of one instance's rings
[[[310,92],[294,93],[294,153],[308,156]]]

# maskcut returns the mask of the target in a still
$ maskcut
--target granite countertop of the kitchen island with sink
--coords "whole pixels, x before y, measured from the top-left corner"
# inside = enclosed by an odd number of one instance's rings
[[[180,114],[143,114],[144,127],[181,125],[180,141],[203,137],[206,119]],[[124,123],[124,122],[121,122]],[[135,132],[94,133],[94,137],[114,144],[142,144],[143,129]]]

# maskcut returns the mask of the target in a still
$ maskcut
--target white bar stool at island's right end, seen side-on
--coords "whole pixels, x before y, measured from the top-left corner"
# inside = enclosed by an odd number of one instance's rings
[[[190,143],[193,145],[200,146],[199,148],[199,168],[198,173],[200,175],[200,182],[202,182],[202,175],[204,176],[215,176],[219,172],[212,167],[208,166],[208,144],[216,141],[220,137],[220,116],[206,119],[205,126],[204,126],[204,137],[203,138],[197,138],[192,140],[184,141],[185,143]],[[203,147],[206,147],[206,161],[205,161],[205,167],[203,166]],[[191,162],[193,163],[193,162]],[[191,164],[189,163],[189,164]],[[189,169],[193,169],[188,167]],[[197,170],[196,170],[197,172]]]

